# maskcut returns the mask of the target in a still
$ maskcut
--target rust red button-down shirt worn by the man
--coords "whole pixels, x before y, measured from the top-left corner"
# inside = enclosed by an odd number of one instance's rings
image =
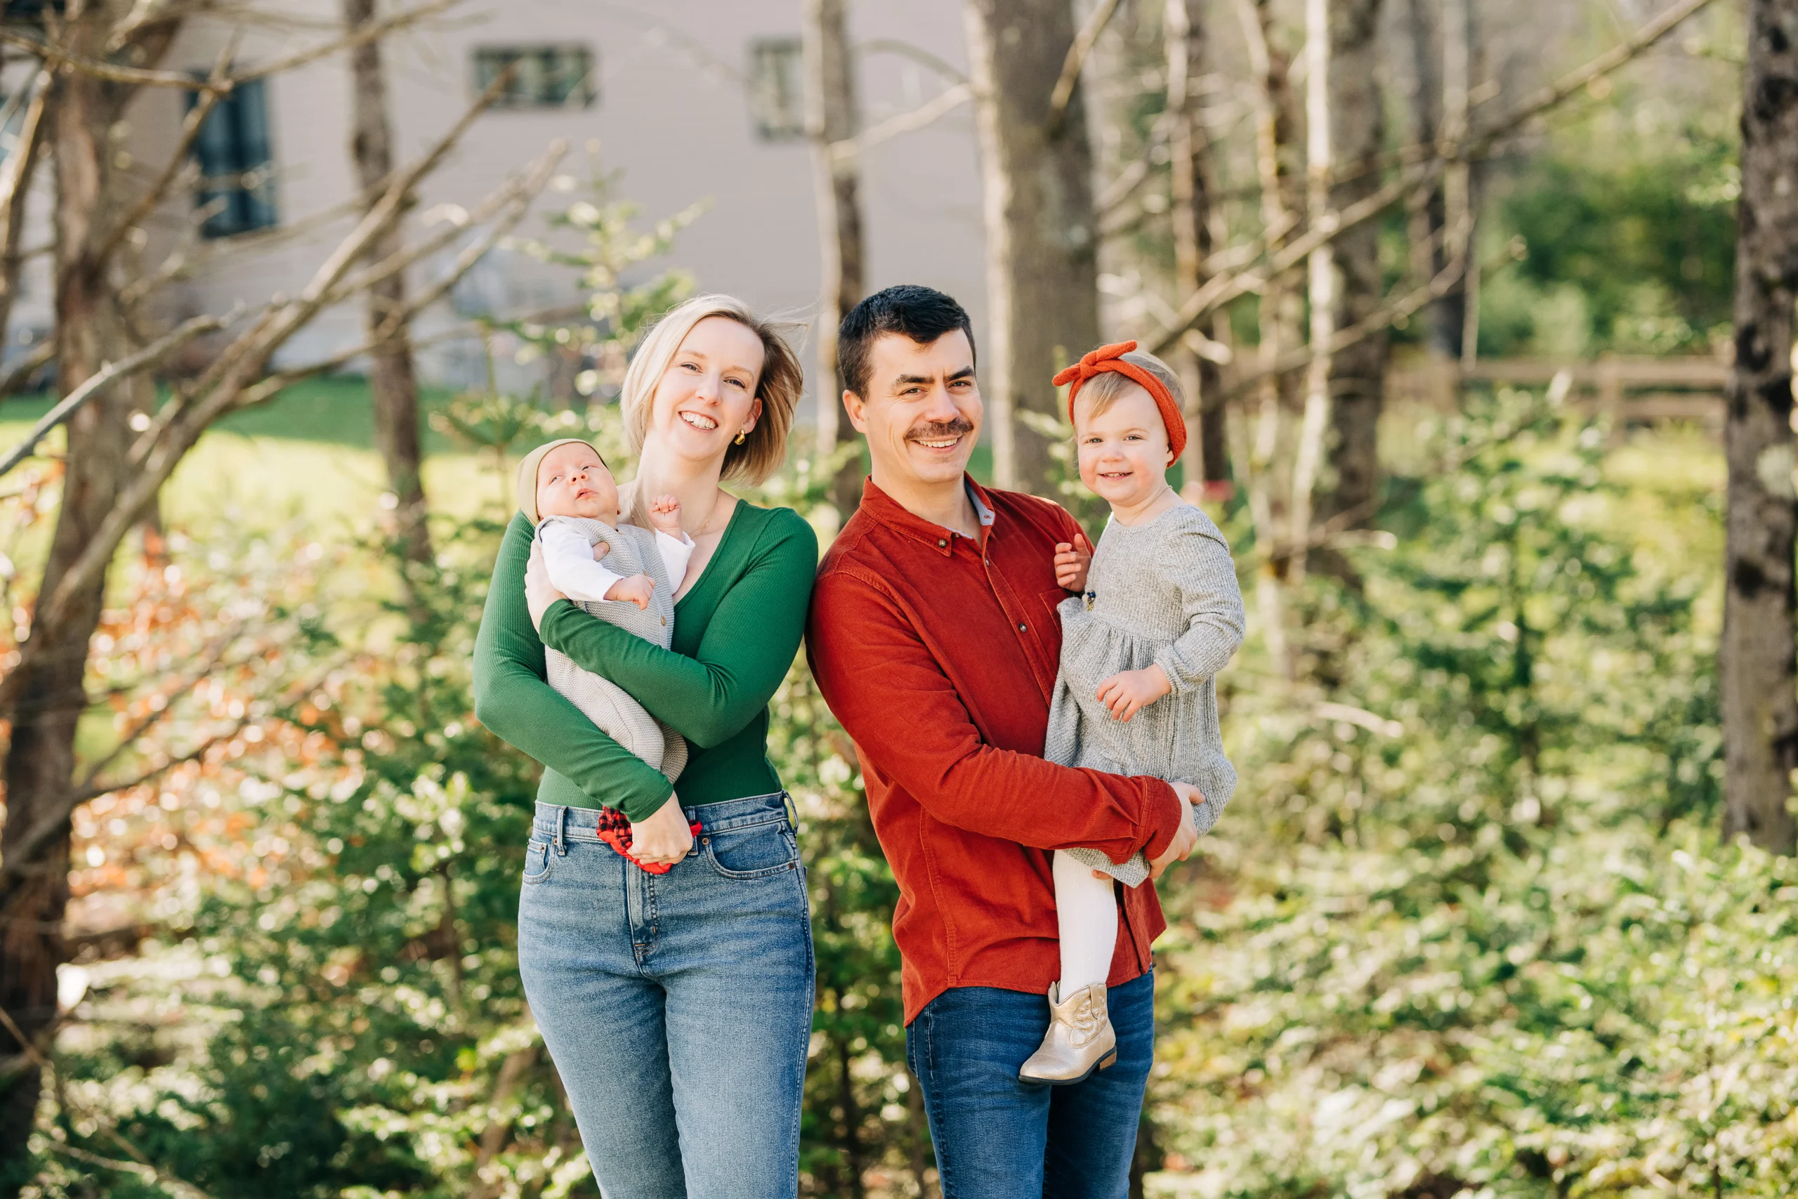
[[[849,730],[899,881],[904,1019],[949,987],[1045,992],[1061,973],[1048,850],[1158,856],[1179,827],[1160,778],[1043,760],[1061,656],[1059,505],[969,482],[976,539],[870,480],[818,568],[811,669]],[[1149,969],[1154,886],[1124,888],[1109,985]]]

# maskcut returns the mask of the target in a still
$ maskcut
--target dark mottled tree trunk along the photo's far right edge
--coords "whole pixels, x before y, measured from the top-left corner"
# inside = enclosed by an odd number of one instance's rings
[[[1753,0],[1742,84],[1735,365],[1722,609],[1724,834],[1791,854],[1798,769],[1793,306],[1798,304],[1798,2]]]

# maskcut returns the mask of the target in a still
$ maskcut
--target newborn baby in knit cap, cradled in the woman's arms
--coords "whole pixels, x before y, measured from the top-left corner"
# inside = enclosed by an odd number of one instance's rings
[[[518,464],[518,507],[538,527],[550,582],[593,617],[662,649],[674,636],[674,591],[687,575],[692,537],[680,528],[680,502],[649,503],[654,532],[619,525],[619,485],[584,440],[563,439]],[[649,715],[622,687],[543,647],[548,685],[602,733],[674,780],[687,742]]]

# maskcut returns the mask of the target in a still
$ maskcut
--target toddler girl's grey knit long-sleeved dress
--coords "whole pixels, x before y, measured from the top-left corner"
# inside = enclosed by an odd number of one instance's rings
[[[1043,757],[1111,775],[1188,782],[1205,795],[1192,809],[1210,832],[1235,791],[1235,768],[1217,730],[1214,676],[1242,644],[1242,591],[1230,543],[1199,509],[1179,503],[1145,525],[1109,521],[1086,575],[1088,597],[1061,604],[1061,672],[1048,708]],[[1174,690],[1117,721],[1099,685],[1120,671],[1160,665]],[[1066,850],[1136,886],[1149,863],[1124,865],[1095,848]]]

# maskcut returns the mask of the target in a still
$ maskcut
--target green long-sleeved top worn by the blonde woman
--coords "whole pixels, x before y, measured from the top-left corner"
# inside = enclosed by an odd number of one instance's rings
[[[475,640],[475,717],[543,762],[538,800],[651,816],[672,791],[696,807],[770,795],[768,701],[806,629],[818,537],[793,509],[739,502],[699,582],[674,606],[674,644],[653,645],[568,600],[525,608],[532,527],[512,518]],[[601,674],[676,728],[690,755],[680,786],[599,732],[543,681],[543,645]]]

